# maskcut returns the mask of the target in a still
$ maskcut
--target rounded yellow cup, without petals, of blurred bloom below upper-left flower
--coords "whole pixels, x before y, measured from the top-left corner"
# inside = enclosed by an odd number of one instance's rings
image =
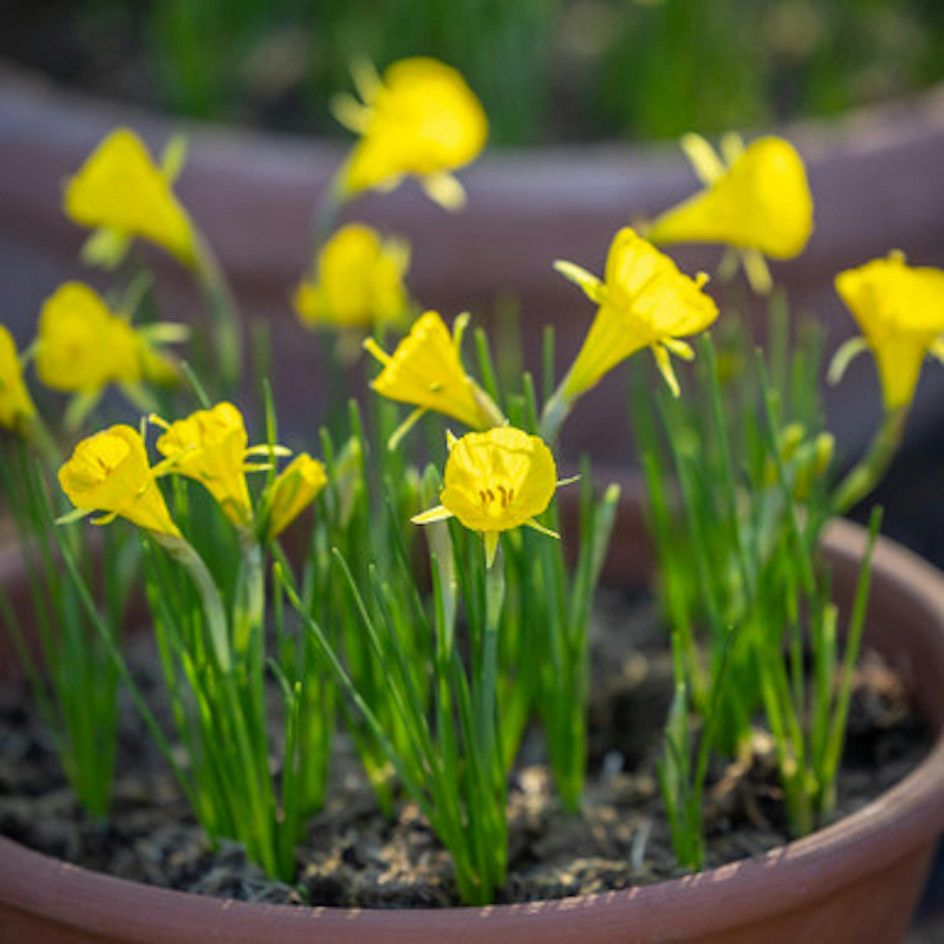
[[[143,377],[141,341],[88,285],[66,282],[42,305],[36,372],[53,390],[97,393]]]

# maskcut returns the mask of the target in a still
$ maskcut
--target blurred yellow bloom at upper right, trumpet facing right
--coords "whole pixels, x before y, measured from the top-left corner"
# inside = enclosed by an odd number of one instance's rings
[[[698,135],[685,135],[682,146],[705,189],[663,213],[646,235],[656,244],[732,246],[754,289],[768,292],[764,257],[799,256],[813,232],[813,197],[796,148],[773,136],[745,147],[729,135],[722,143],[725,166]]]

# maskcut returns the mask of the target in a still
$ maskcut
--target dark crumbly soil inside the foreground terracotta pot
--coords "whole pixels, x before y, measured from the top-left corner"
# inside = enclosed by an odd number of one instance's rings
[[[132,649],[135,672],[161,705],[154,653]],[[555,800],[539,740],[526,739],[509,791],[510,869],[501,902],[644,885],[681,874],[655,778],[671,666],[655,608],[604,595],[594,622],[590,777],[580,816]],[[858,671],[834,818],[848,816],[916,767],[930,735],[902,680],[874,653]],[[788,840],[772,745],[758,731],[750,764],[710,773],[708,866]],[[0,689],[0,834],[47,854],[150,885],[257,902],[349,907],[459,903],[447,853],[416,806],[383,818],[343,734],[326,808],[297,849],[298,881],[267,879],[235,844],[213,848],[177,784],[123,705],[110,818],[83,815],[65,784],[24,685]]]

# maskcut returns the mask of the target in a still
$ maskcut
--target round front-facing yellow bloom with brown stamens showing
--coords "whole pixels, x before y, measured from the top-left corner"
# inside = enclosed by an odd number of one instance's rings
[[[481,534],[491,566],[501,531],[526,525],[558,536],[535,520],[548,508],[557,486],[554,457],[539,436],[509,426],[470,432],[449,440],[441,504],[412,520],[425,525],[457,517]]]

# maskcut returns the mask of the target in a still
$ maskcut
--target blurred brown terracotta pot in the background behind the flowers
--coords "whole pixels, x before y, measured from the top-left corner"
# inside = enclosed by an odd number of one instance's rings
[[[96,278],[76,260],[84,234],[62,216],[61,180],[119,124],[135,127],[154,147],[185,126],[191,148],[179,193],[209,234],[245,312],[273,329],[282,425],[312,430],[317,391],[324,389],[317,341],[297,326],[288,298],[308,261],[312,206],[341,159],[341,143],[174,121],[0,64],[0,317],[25,343],[42,299],[60,280]],[[801,258],[777,266],[776,275],[796,311],[826,321],[835,346],[853,332],[834,295],[835,271],[893,247],[914,261],[944,265],[944,90],[784,133],[808,161],[817,231]],[[551,261],[600,271],[616,228],[696,186],[674,143],[495,150],[463,177],[469,204],[461,214],[433,206],[413,184],[364,200],[355,212],[410,239],[410,284],[424,305],[449,315],[470,309],[479,317],[492,311],[497,295],[516,297],[534,368],[544,324],[558,328],[563,364],[592,315],[582,295],[551,271]],[[672,251],[688,271],[712,271],[718,258],[714,249]],[[185,274],[165,259],[155,261],[167,316],[194,312]],[[734,300],[740,303],[739,296]],[[758,311],[757,324],[765,322]],[[926,374],[914,434],[940,419],[944,375]],[[613,417],[625,414],[622,385],[606,379],[594,398],[595,408],[565,430],[569,453],[588,450],[598,462],[628,463],[630,447],[612,434]],[[879,407],[867,359],[853,364],[831,403],[834,429],[850,447],[860,445]]]

